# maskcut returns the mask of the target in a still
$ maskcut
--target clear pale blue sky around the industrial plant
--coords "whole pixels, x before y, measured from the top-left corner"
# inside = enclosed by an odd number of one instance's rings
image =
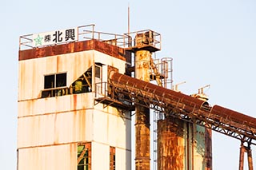
[[[183,93],[210,84],[211,105],[256,117],[254,0],[2,0],[0,169],[16,169],[19,36],[91,23],[98,31],[123,34],[128,4],[131,31],[162,34],[157,56],[173,57],[174,84],[186,81],[179,87]],[[214,132],[214,170],[238,169],[239,146],[239,140]]]

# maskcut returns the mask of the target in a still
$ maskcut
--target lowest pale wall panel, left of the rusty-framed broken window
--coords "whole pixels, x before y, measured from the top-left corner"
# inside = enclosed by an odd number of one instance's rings
[[[20,170],[76,170],[77,144],[19,149],[18,158]]]

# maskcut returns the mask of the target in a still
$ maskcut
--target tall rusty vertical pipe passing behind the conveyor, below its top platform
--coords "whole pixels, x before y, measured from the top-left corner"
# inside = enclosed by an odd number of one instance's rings
[[[135,52],[135,78],[150,81],[150,58],[150,51]],[[140,105],[135,107],[135,139],[135,168],[150,170],[150,109]]]

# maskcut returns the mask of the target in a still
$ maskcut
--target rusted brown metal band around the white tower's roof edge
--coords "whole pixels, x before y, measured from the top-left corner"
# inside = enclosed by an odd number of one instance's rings
[[[51,45],[44,48],[20,50],[18,61],[39,57],[50,57],[64,53],[75,53],[90,49],[98,50],[99,52],[106,53],[112,57],[118,57],[123,61],[126,61],[126,57],[127,59],[129,58],[129,53],[126,54],[125,49],[105,42],[99,42],[98,40],[89,40],[84,42],[70,42],[63,45]]]

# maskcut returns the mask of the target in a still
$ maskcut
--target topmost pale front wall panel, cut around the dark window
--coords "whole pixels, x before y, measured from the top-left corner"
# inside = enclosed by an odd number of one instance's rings
[[[41,57],[18,62],[18,101],[41,97],[44,75],[67,73],[70,86],[93,65],[94,50]]]

